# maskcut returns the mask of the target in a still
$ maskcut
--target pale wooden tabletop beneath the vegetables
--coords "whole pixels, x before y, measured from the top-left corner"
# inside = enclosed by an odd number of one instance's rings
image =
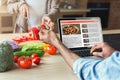
[[[0,40],[10,40],[15,36],[25,34],[0,34]],[[0,80],[79,80],[72,69],[59,55],[45,55],[41,64],[31,69],[14,69],[0,73]]]

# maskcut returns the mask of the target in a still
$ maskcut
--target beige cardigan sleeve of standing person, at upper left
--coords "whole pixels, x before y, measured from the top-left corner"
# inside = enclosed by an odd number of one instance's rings
[[[19,7],[23,4],[26,4],[25,0],[8,0],[7,1],[8,12],[11,14],[18,13]]]

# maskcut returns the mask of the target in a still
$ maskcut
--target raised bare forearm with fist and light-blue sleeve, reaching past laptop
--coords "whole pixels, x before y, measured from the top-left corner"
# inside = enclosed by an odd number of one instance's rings
[[[80,80],[120,79],[120,52],[113,52],[111,56],[104,60],[81,58],[65,47],[53,31],[41,29],[39,35],[40,40],[56,46]],[[108,47],[103,48],[106,48],[104,51],[111,49]]]

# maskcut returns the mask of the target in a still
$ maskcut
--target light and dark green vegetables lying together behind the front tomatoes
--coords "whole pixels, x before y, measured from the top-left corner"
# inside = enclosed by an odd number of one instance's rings
[[[33,53],[42,57],[44,55],[43,45],[42,43],[31,43],[21,46],[18,50],[16,50],[13,54],[14,56],[31,56]]]

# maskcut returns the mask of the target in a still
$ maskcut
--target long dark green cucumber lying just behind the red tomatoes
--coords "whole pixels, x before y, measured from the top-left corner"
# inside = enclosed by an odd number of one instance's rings
[[[44,55],[44,51],[43,50],[29,50],[29,51],[16,51],[14,52],[14,56],[31,56],[33,53],[36,53],[39,55],[39,57],[42,57]]]

